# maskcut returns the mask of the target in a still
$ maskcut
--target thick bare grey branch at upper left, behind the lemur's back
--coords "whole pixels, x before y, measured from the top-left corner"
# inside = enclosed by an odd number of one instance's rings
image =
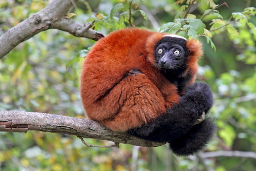
[[[73,1],[76,2],[77,0]],[[104,37],[103,34],[90,29],[92,23],[82,25],[75,23],[72,18],[65,18],[65,14],[72,6],[71,0],[54,0],[40,12],[6,30],[0,37],[0,59],[21,42],[47,29],[59,29],[77,37],[93,40]]]

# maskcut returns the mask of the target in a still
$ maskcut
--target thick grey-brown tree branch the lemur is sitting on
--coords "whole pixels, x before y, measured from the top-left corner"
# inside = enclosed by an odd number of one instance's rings
[[[27,132],[28,130],[65,133],[145,147],[165,144],[142,140],[127,133],[113,132],[90,119],[36,112],[0,111],[0,131]]]

